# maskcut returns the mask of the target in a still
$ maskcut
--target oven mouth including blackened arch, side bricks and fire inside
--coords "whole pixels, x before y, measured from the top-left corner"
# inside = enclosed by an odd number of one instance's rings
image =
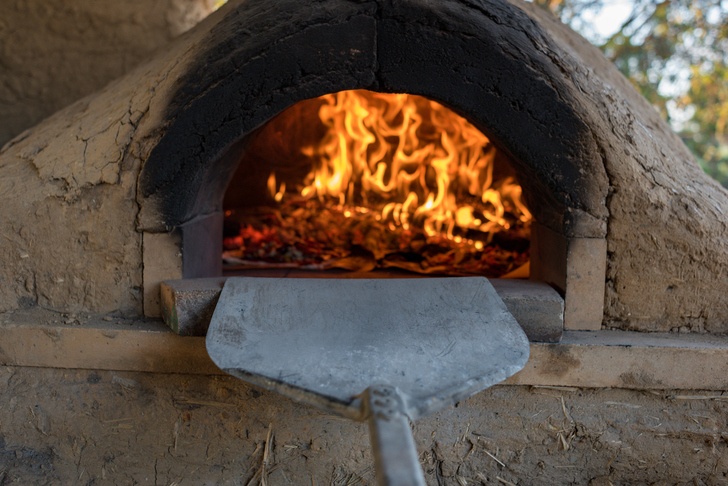
[[[567,84],[546,81],[560,78],[542,54],[529,60],[514,51],[532,39],[480,11],[459,4],[441,11],[428,2],[339,7],[313,17],[293,8],[290,22],[270,13],[265,28],[247,24],[256,12],[225,18],[222,30],[210,35],[228,35],[230,42],[211,40],[196,55],[199,66],[177,81],[167,108],[170,122],[139,178],[145,315],[165,316],[183,332],[185,311],[170,304],[187,298],[177,290],[214,298],[220,279],[233,272],[321,276],[312,273],[316,267],[338,278],[363,273],[497,279],[521,272],[527,279],[496,288],[514,288],[514,295],[525,295],[521,302],[543,302],[530,293],[536,286],[558,301],[557,310],[529,310],[534,322],[557,323],[547,327],[558,327],[558,335],[564,328],[599,329],[608,181],[593,133],[572,99],[580,95]],[[258,13],[259,20],[268,15]],[[443,30],[443,22],[459,27]],[[231,34],[246,29],[256,36]],[[266,36],[271,42],[263,42]],[[442,127],[413,131],[425,142],[421,147],[411,144],[411,134],[395,137],[398,127],[418,119],[405,117],[402,110],[409,108],[401,107],[380,138],[367,129],[355,139],[364,115],[348,121],[351,139],[334,134],[328,146],[312,145],[307,137],[326,139],[327,123],[346,125],[346,116],[336,121],[336,107],[351,93],[369,93],[362,98],[367,106],[351,101],[363,111],[405,94],[424,100],[430,111],[416,117],[439,120],[433,107],[442,107],[480,133],[478,150],[470,152],[480,155],[451,150],[454,134],[443,138]],[[391,114],[390,105],[382,106]],[[314,122],[293,123],[302,119]],[[373,141],[364,143],[370,136]],[[289,142],[293,150],[286,148]],[[330,170],[337,150],[379,157],[337,173]],[[417,150],[430,151],[424,162],[394,170],[395,160]],[[462,160],[445,162],[448,157]],[[492,171],[468,169],[491,159]],[[412,184],[396,197],[383,189],[408,179]],[[521,196],[512,197],[516,192]],[[345,243],[324,244],[313,233]],[[238,268],[223,269],[223,246],[226,260]],[[193,281],[209,278],[212,283]],[[164,281],[176,283],[160,294]],[[204,327],[198,324],[191,327]]]

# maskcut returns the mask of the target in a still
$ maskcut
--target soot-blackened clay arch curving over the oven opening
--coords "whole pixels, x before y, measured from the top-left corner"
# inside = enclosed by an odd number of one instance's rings
[[[179,80],[142,202],[167,228],[220,211],[248,134],[298,101],[364,88],[452,108],[511,156],[540,223],[603,237],[602,224],[571,224],[606,219],[608,183],[552,42],[498,0],[242,2]]]

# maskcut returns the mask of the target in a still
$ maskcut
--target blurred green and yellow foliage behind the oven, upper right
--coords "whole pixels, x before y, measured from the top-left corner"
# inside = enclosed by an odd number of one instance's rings
[[[728,0],[622,0],[608,36],[595,27],[615,0],[535,3],[599,46],[728,187]]]

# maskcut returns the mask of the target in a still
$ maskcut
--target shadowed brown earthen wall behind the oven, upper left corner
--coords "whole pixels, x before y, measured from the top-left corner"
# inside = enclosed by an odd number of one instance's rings
[[[126,73],[214,0],[0,2],[0,146]]]

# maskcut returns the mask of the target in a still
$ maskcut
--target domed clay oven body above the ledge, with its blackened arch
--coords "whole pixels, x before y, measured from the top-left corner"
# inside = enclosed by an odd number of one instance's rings
[[[161,282],[221,275],[226,190],[274,172],[249,158],[267,124],[349,90],[488,139],[565,329],[726,331],[725,190],[595,49],[503,0],[229,2],[2,149],[0,308],[160,316]]]

